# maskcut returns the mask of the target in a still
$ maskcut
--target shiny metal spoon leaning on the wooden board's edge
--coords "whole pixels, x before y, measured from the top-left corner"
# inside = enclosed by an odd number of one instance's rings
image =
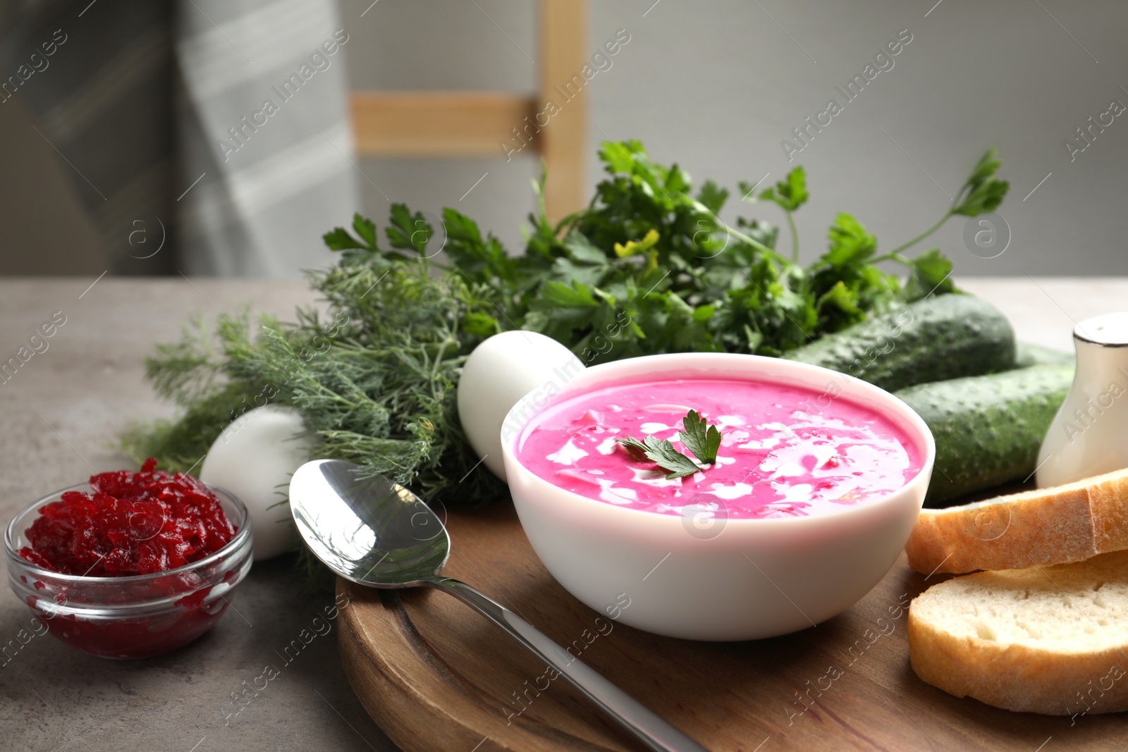
[[[441,576],[450,537],[439,517],[403,486],[382,477],[362,478],[359,469],[352,462],[315,460],[290,480],[293,521],[327,567],[359,585],[450,593],[512,635],[651,750],[706,752],[501,603]]]

